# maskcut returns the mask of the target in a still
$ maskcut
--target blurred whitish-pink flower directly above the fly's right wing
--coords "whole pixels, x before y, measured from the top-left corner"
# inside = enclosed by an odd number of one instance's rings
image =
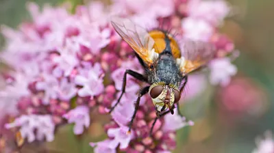
[[[190,40],[208,41],[214,32],[213,27],[205,20],[191,17],[182,20],[182,29],[184,37]]]

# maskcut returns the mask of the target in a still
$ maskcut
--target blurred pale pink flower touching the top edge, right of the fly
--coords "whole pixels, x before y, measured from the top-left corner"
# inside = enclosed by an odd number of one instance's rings
[[[212,25],[220,25],[229,14],[229,10],[227,2],[223,0],[191,0],[188,3],[188,16],[206,20]]]

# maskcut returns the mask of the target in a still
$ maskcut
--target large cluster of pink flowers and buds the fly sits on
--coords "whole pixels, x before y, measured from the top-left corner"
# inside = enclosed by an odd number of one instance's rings
[[[5,124],[5,128],[18,128],[29,143],[43,139],[53,141],[58,125],[74,123],[75,135],[81,135],[90,126],[91,109],[108,113],[106,110],[121,94],[125,70],[143,72],[132,49],[110,25],[109,18],[113,15],[134,20],[147,29],[163,25],[184,38],[213,42],[218,49],[216,59],[210,63],[210,81],[214,85],[227,85],[229,78],[236,74],[236,67],[227,57],[234,51],[234,45],[218,31],[229,14],[225,1],[112,2],[108,10],[98,1],[81,5],[74,14],[66,7],[49,5],[40,12],[38,5],[28,3],[32,22],[23,23],[17,30],[2,27],[7,44],[1,61],[12,69],[3,74],[0,111],[1,115],[15,118],[14,122]],[[190,84],[197,81],[204,85],[206,79],[190,77]],[[155,108],[149,96],[143,96],[132,133],[127,134],[134,101],[144,85],[127,77],[121,105],[114,109],[112,121],[105,125],[109,138],[90,143],[96,146],[95,152],[116,152],[117,149],[169,152],[175,148],[175,130],[193,125],[175,111],[174,115],[168,114],[155,122],[149,135],[156,117]],[[203,89],[195,86],[195,89],[189,87],[192,96],[199,92],[197,89]]]

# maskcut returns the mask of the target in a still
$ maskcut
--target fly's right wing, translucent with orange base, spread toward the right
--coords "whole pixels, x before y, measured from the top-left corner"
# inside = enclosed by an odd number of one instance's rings
[[[177,64],[183,74],[188,74],[208,64],[214,58],[216,48],[209,42],[184,40],[181,52],[182,57],[177,59]]]

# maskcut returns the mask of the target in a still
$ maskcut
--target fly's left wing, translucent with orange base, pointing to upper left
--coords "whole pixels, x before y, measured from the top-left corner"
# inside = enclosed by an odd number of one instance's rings
[[[127,18],[114,17],[111,23],[115,31],[134,49],[142,61],[147,66],[151,66],[153,61],[157,59],[158,53],[155,53],[155,49],[153,48],[155,42],[149,36],[149,33]]]

